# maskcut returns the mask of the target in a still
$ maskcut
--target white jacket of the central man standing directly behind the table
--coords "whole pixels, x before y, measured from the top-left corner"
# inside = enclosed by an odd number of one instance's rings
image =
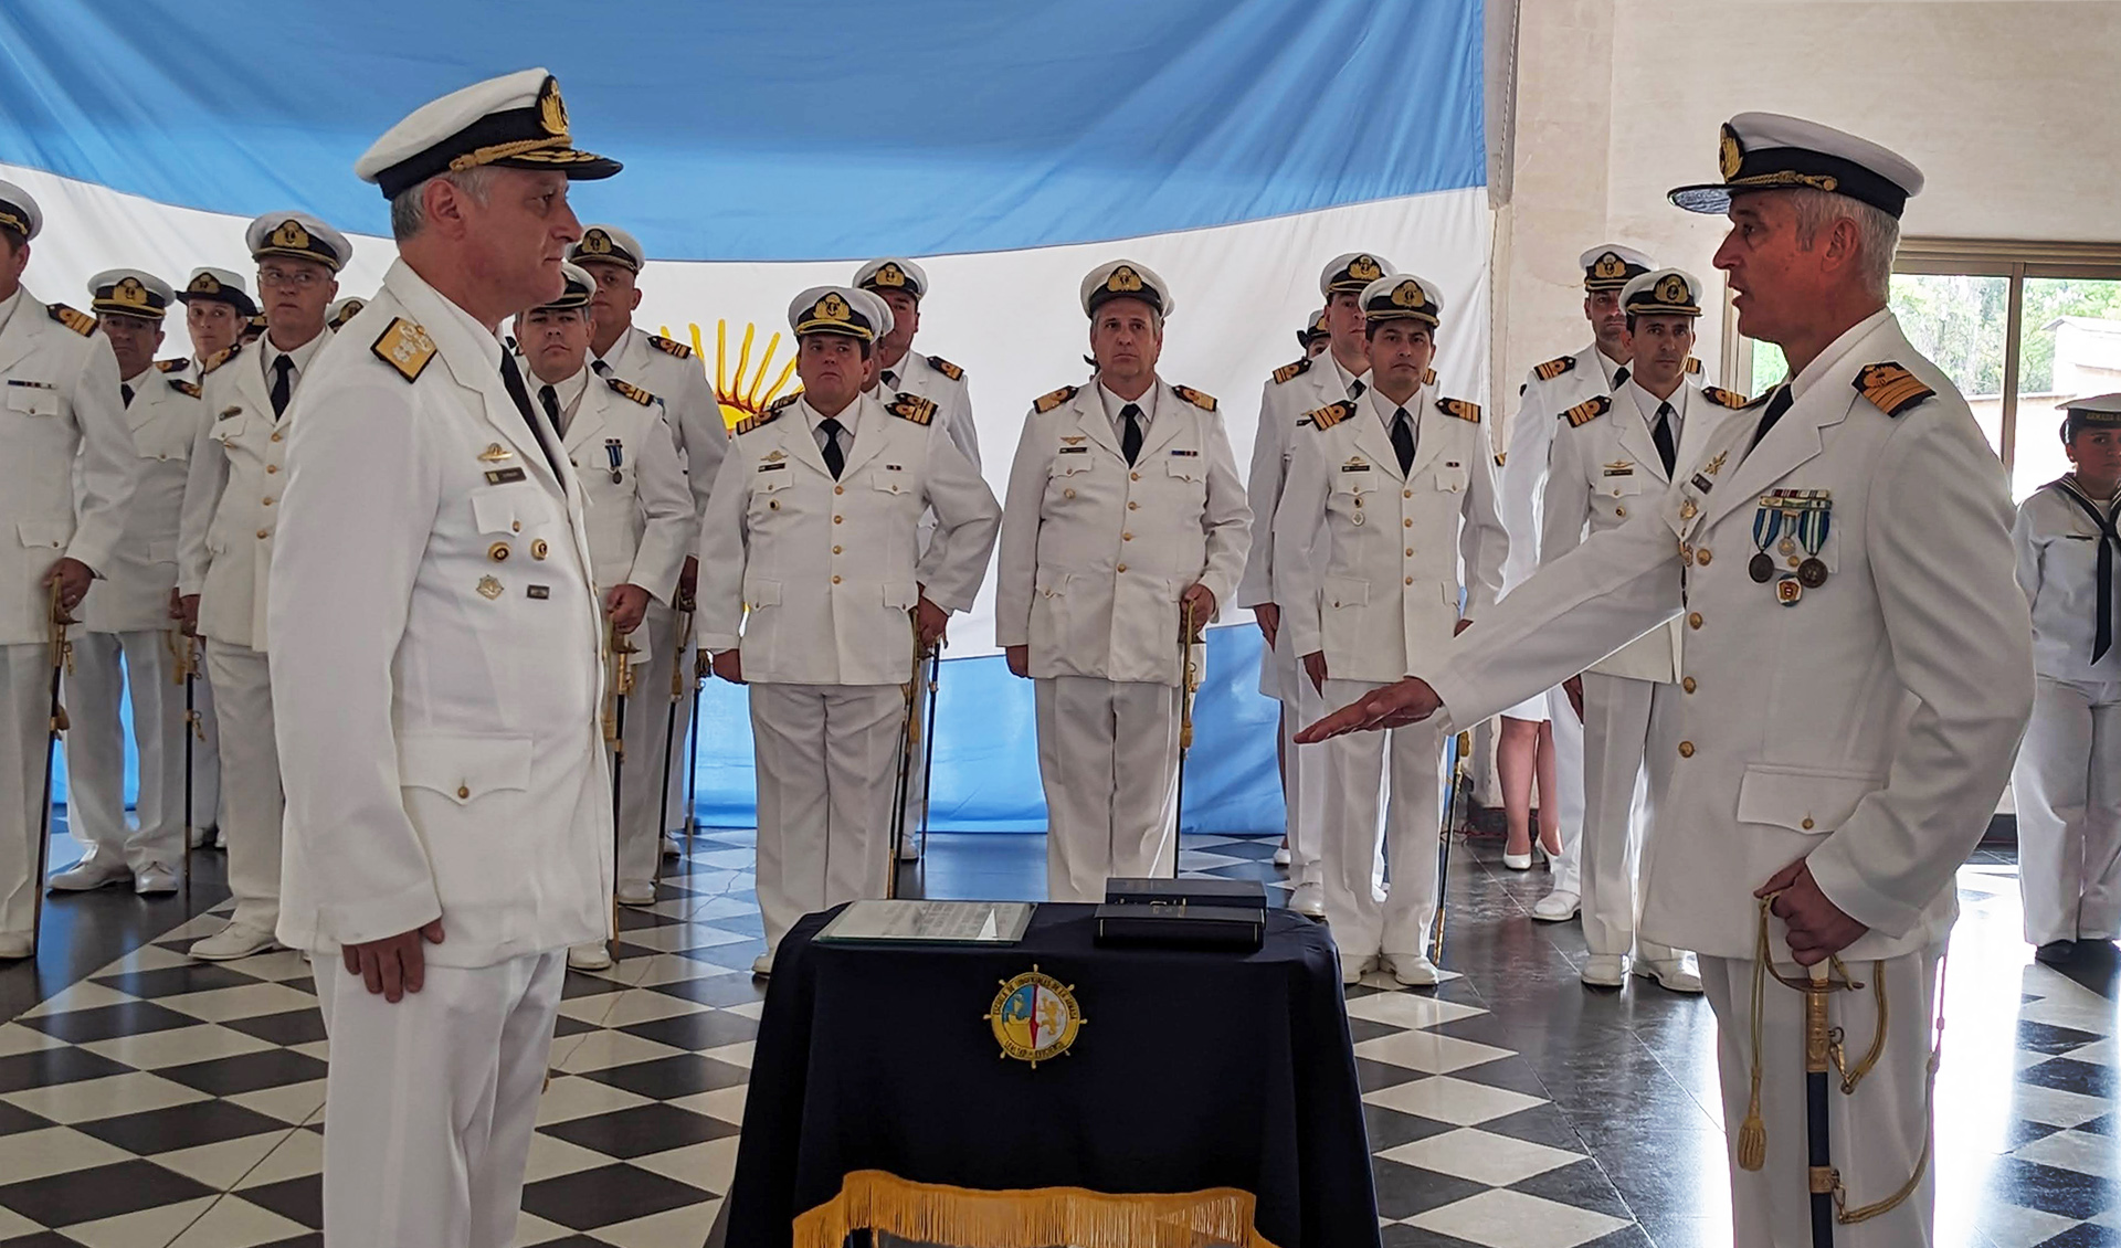
[[[1150,422],[1133,468],[1094,379],[1024,417],[995,642],[1031,646],[1035,678],[1179,684],[1179,595],[1200,583],[1220,614],[1245,570],[1251,509],[1215,400],[1158,377],[1141,407]]]

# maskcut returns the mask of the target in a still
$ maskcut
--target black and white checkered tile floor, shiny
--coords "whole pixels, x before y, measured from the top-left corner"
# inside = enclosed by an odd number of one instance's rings
[[[1031,837],[937,837],[931,854],[931,886],[986,862],[971,871],[986,892],[1010,873],[1037,892],[1044,871]],[[624,915],[619,964],[568,975],[520,1244],[706,1240],[764,1004],[751,856],[747,833],[702,837],[662,901]],[[1270,841],[1186,837],[1181,864],[1283,888],[1270,858]],[[1542,890],[1491,845],[1461,854],[1447,953],[1461,975],[1349,992],[1385,1244],[1729,1244],[1707,1009],[1644,985],[1587,994],[1574,924],[1525,917]],[[2030,964],[2006,860],[1968,867],[1962,894],[1939,1244],[2121,1244],[2121,970]],[[320,1244],[327,1045],[310,968],[189,962],[218,922],[0,1023],[0,1248]]]

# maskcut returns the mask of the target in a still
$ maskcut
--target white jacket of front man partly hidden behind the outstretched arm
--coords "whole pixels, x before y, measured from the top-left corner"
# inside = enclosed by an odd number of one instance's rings
[[[1733,407],[1746,407],[1739,394],[1697,390],[1684,381],[1671,392],[1669,403],[1680,430],[1678,456],[1671,462],[1682,477],[1693,470],[1695,451],[1707,443],[1716,424],[1731,415]],[[1665,462],[1657,453],[1657,439],[1650,436],[1657,405],[1654,394],[1629,379],[1610,398],[1597,394],[1557,413],[1555,441],[1548,447],[1546,498],[1540,502],[1540,564],[1567,555],[1589,534],[1620,528],[1629,515],[1657,506],[1671,487]],[[1758,413],[1748,424],[1758,424]],[[1684,631],[1678,619],[1669,619],[1587,670],[1671,684],[1680,678]]]

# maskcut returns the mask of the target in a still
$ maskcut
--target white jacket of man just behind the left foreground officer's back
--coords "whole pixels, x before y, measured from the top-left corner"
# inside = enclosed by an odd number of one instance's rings
[[[320,354],[310,356],[312,367]],[[176,589],[199,595],[199,636],[252,650],[269,650],[274,534],[288,439],[308,386],[308,375],[297,377],[295,403],[276,417],[263,356],[259,343],[238,343],[201,367],[208,422],[191,449],[176,545]]]

